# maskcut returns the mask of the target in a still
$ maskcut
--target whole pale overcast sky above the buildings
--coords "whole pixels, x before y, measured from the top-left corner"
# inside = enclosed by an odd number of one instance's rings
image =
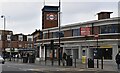
[[[44,5],[58,6],[59,0],[0,0],[0,15],[6,18],[6,30],[14,34],[31,34],[42,30],[42,11]],[[61,25],[97,20],[101,11],[113,12],[118,17],[119,0],[61,0]],[[0,18],[0,30],[3,30]]]

